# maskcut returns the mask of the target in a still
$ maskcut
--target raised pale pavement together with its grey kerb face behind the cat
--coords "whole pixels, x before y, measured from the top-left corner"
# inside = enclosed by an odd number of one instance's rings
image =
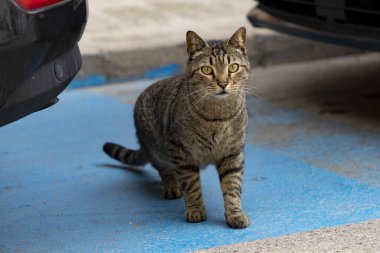
[[[227,39],[247,29],[251,66],[361,53],[253,28],[252,0],[89,1],[89,19],[80,41],[83,66],[71,88],[175,75],[186,68],[185,34]]]

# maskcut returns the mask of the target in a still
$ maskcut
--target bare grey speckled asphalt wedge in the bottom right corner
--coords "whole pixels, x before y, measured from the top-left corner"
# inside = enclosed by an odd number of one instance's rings
[[[379,252],[380,220],[322,228],[197,253]]]

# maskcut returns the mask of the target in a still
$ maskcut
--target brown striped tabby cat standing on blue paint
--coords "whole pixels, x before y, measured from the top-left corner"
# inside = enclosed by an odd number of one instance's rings
[[[232,228],[249,226],[241,205],[248,114],[244,88],[249,61],[246,30],[226,41],[205,41],[186,33],[185,74],[158,81],[138,97],[134,108],[139,150],[106,143],[103,150],[129,164],[150,162],[162,179],[164,195],[184,195],[188,222],[207,219],[199,169],[215,164]]]

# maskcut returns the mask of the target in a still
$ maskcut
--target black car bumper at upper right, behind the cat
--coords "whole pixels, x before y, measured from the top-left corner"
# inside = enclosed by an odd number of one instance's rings
[[[248,19],[254,26],[380,51],[379,0],[258,0]]]

